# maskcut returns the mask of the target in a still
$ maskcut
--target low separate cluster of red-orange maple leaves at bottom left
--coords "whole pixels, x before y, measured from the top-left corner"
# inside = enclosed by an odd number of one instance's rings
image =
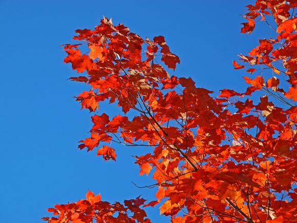
[[[48,211],[53,212],[56,217],[44,217],[44,220],[52,223],[59,222],[144,222],[150,223],[151,220],[146,217],[146,213],[140,208],[146,201],[137,197],[132,200],[125,200],[124,206],[119,202],[110,204],[102,201],[100,194],[94,196],[93,192],[88,191],[86,199],[79,200],[72,204],[55,205],[55,208],[49,208]],[[132,215],[132,216],[130,216]]]

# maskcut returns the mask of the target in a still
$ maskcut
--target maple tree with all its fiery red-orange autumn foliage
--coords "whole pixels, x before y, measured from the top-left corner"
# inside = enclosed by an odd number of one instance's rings
[[[151,222],[143,208],[159,203],[172,222],[297,220],[297,1],[246,7],[241,32],[249,34],[263,21],[276,36],[259,39],[259,46],[233,62],[235,69],[251,66],[246,72],[252,77],[244,77],[251,86],[223,89],[217,97],[196,88],[190,77],[169,76],[161,64],[174,70],[180,60],[163,36],[143,39],[105,17],[94,30],[76,30],[73,39],[83,43],[63,45],[64,62],[87,73],[71,80],[92,86],[76,100],[90,112],[101,111],[104,100],[123,111],[112,118],[94,114],[91,136],[78,147],[98,147],[97,155],[116,160],[111,142],[150,146],[151,153],[135,159],[140,175],[153,172],[158,191],[156,200],[145,204],[137,197],[124,205],[88,191],[86,199],[48,209],[54,216],[44,220]],[[82,54],[82,44],[90,51]],[[266,94],[254,103],[251,96],[259,90]]]

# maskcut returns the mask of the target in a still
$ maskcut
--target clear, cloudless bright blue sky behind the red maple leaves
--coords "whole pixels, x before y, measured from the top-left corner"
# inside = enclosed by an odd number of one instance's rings
[[[114,146],[116,162],[96,157],[96,149],[77,150],[92,123],[73,98],[89,87],[67,80],[77,74],[62,64],[67,54],[60,45],[73,43],[74,30],[93,29],[104,15],[143,38],[163,35],[181,60],[174,75],[190,76],[216,96],[248,87],[242,76],[249,74],[234,70],[232,60],[269,36],[262,25],[240,33],[248,4],[253,1],[0,0],[0,222],[43,222],[47,208],[83,199],[88,189],[109,202],[155,199],[156,189],[131,183],[154,184],[152,175],[139,176],[131,156],[148,149]],[[103,112],[118,110],[104,105]],[[158,207],[145,210],[152,222],[166,219]]]

